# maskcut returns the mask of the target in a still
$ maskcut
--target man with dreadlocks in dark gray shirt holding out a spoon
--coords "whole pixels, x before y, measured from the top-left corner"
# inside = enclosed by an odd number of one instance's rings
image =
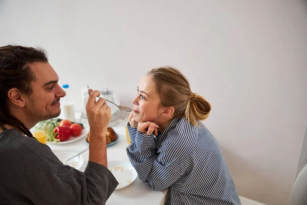
[[[42,49],[0,47],[0,204],[105,204],[118,182],[106,168],[111,110],[99,91],[86,113],[91,129],[83,172],[64,166],[31,134],[37,122],[59,116],[65,92]]]

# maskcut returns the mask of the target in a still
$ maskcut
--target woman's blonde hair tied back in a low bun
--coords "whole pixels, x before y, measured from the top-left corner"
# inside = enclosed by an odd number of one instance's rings
[[[204,97],[191,91],[187,78],[179,70],[172,67],[155,68],[147,75],[156,83],[161,105],[174,107],[174,117],[185,117],[193,125],[208,117],[211,105]]]

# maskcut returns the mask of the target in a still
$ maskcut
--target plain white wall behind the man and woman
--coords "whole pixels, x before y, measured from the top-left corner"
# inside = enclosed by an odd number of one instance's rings
[[[149,69],[179,68],[212,104],[205,125],[239,194],[287,202],[307,124],[306,1],[0,1],[9,43],[46,48],[77,110],[86,84],[131,105]]]

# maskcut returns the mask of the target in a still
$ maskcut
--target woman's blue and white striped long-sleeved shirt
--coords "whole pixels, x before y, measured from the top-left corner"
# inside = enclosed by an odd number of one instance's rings
[[[165,204],[241,204],[217,141],[200,122],[175,118],[158,136],[128,125],[127,154],[152,190],[168,189]]]

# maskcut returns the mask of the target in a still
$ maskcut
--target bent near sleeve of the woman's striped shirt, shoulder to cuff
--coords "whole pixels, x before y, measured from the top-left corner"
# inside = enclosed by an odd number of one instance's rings
[[[183,175],[183,162],[192,150],[193,140],[190,138],[196,133],[190,129],[182,127],[180,130],[169,131],[161,148],[157,150],[155,138],[138,132],[136,128],[128,128],[129,136],[134,135],[132,140],[130,136],[128,157],[139,178],[143,182],[149,182],[152,190],[164,190]]]

